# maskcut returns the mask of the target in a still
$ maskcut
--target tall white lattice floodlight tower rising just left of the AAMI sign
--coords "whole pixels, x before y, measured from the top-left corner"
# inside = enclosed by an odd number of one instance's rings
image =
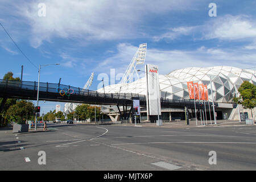
[[[133,59],[131,60],[128,68],[125,71],[125,74],[122,77],[122,80],[119,84],[127,84],[128,82],[133,81],[134,72],[136,73],[137,77],[139,78],[139,74],[136,70],[137,64],[144,64],[145,57],[147,52],[147,43],[139,44],[139,48],[136,51]]]

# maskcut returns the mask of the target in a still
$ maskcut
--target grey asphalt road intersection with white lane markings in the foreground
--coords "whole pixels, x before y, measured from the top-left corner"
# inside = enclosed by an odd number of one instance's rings
[[[1,130],[0,170],[255,170],[255,129],[61,123],[47,132]]]

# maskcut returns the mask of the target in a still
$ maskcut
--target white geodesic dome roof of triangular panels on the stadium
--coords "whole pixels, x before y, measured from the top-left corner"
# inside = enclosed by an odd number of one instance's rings
[[[210,78],[212,79],[212,91]],[[187,82],[203,83],[208,87],[209,101],[212,94],[216,102],[232,102],[236,89],[240,88],[243,81],[256,85],[255,71],[235,67],[208,67],[177,69],[168,75],[159,75],[160,92],[163,98],[174,100],[189,100]],[[236,89],[234,88],[236,86]],[[103,88],[98,92],[104,92]],[[146,78],[143,77],[129,84],[105,86],[105,93],[135,93],[146,95]]]

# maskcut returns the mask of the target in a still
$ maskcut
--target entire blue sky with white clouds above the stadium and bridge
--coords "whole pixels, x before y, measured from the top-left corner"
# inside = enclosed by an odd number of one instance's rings
[[[60,64],[43,67],[40,81],[81,88],[94,72],[89,89],[97,90],[102,78],[105,86],[118,83],[142,43],[144,64],[162,75],[256,67],[255,7],[251,0],[0,0],[0,22],[30,60],[0,26],[0,78],[20,77],[23,65],[23,80],[37,81],[39,64]],[[56,104],[63,110],[63,102],[39,102],[43,113]]]

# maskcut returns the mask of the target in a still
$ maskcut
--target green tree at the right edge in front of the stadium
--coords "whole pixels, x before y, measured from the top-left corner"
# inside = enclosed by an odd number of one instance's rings
[[[234,97],[234,102],[242,104],[244,109],[250,109],[251,117],[253,118],[253,108],[256,106],[256,85],[251,84],[249,81],[244,81],[238,92],[240,92],[240,96]]]

